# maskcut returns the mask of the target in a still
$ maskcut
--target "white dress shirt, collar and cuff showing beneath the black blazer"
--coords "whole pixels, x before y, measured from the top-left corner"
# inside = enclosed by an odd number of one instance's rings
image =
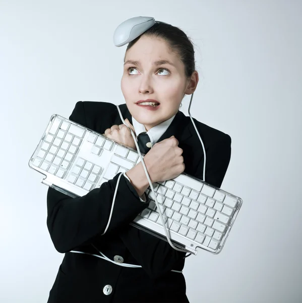
[[[132,125],[134,127],[135,134],[136,134],[137,137],[140,133],[147,132],[147,134],[150,138],[150,141],[151,141],[151,148],[152,148],[152,146],[158,141],[158,139],[163,135],[163,133],[167,130],[169,125],[172,123],[174,117],[175,117],[175,115],[173,117],[171,117],[170,119],[168,119],[166,121],[163,121],[158,125],[153,126],[148,131],[146,130],[144,124],[141,124],[138,121],[136,121],[134,119],[134,117],[132,117]],[[126,173],[124,173],[124,176],[131,183],[130,179],[126,176]],[[140,197],[140,200],[142,202],[146,202],[145,193],[143,193],[143,195]]]

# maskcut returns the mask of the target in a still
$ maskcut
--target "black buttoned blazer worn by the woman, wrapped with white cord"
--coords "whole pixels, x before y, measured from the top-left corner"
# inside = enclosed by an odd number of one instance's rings
[[[126,104],[119,107],[123,118],[132,123]],[[104,102],[78,102],[70,120],[101,134],[112,125],[123,123],[116,106]],[[206,149],[206,181],[220,187],[230,161],[231,138],[195,119],[194,122]],[[183,149],[185,172],[203,179],[203,150],[190,117],[178,111],[158,141],[171,135]],[[189,302],[184,275],[171,272],[184,268],[186,254],[129,225],[148,203],[140,201],[124,176],[119,181],[109,228],[101,236],[108,223],[119,174],[82,197],[71,198],[48,188],[47,227],[54,247],[65,254],[48,303]],[[142,268],[122,267],[94,256],[69,252],[98,254],[91,244],[111,260],[120,256],[124,263]],[[112,287],[110,294],[103,292],[106,285]]]

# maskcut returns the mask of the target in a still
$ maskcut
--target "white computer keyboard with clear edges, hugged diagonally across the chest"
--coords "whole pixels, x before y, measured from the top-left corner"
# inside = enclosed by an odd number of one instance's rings
[[[29,166],[41,181],[70,196],[83,196],[140,162],[136,150],[78,123],[52,115]],[[243,200],[186,173],[153,184],[173,244],[191,254],[197,248],[217,254],[233,226]],[[166,240],[153,193],[150,204],[131,223]]]

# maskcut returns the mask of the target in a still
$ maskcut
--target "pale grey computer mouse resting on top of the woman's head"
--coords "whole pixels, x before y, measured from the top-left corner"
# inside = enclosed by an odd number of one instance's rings
[[[119,24],[113,34],[115,46],[123,46],[155,24],[153,17],[134,17]]]

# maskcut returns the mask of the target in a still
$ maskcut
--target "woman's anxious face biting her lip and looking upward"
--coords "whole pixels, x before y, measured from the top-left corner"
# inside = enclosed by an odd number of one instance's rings
[[[126,53],[122,92],[131,115],[147,131],[177,113],[189,82],[183,62],[169,53],[162,39],[142,36]],[[159,105],[136,104],[147,99],[156,100]]]

